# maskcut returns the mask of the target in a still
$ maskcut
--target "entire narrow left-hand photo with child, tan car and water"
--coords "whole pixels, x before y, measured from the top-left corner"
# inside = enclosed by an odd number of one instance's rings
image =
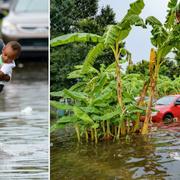
[[[49,0],[0,0],[0,179],[48,179]]]

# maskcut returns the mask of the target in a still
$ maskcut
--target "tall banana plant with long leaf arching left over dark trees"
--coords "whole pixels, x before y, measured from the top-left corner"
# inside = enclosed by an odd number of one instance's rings
[[[124,109],[122,98],[122,75],[121,75],[121,56],[120,54],[125,51],[123,49],[123,41],[129,35],[132,26],[142,26],[145,24],[142,18],[139,17],[142,9],[144,8],[143,0],[137,0],[130,4],[124,18],[115,25],[109,25],[102,36],[90,33],[73,33],[56,37],[51,40],[51,47],[64,45],[73,42],[91,42],[96,44],[87,54],[83,64],[82,73],[86,74],[90,67],[93,66],[96,58],[103,53],[106,49],[111,49],[114,53],[115,67],[116,67],[116,91],[117,100],[120,108]],[[122,123],[122,132],[125,133],[125,125]]]

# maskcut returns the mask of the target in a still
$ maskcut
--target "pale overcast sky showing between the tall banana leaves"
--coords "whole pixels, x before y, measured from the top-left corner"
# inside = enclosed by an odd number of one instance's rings
[[[99,9],[109,4],[116,13],[116,21],[119,22],[132,2],[135,2],[135,0],[99,0]],[[145,7],[140,15],[143,19],[148,16],[155,16],[161,22],[165,21],[168,0],[144,0],[144,3]],[[133,62],[149,59],[149,52],[153,47],[150,42],[150,31],[150,27],[148,29],[134,27],[127,37],[126,48],[132,53]]]

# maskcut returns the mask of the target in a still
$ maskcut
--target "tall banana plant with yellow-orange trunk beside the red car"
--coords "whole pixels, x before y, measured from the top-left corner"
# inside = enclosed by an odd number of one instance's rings
[[[164,58],[172,50],[180,49],[180,26],[176,22],[176,9],[179,6],[177,0],[170,0],[168,3],[168,14],[166,21],[162,24],[157,18],[150,16],[146,19],[146,24],[152,26],[151,43],[156,47],[150,52],[150,100],[146,111],[146,117],[142,128],[142,134],[148,133],[148,123],[151,117],[152,99],[155,96],[155,89],[158,74]]]

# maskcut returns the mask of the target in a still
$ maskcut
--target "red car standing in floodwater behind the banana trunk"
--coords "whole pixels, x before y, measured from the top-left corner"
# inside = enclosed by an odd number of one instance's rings
[[[155,103],[157,112],[152,112],[153,122],[172,122],[173,118],[180,120],[180,94],[160,98]]]

